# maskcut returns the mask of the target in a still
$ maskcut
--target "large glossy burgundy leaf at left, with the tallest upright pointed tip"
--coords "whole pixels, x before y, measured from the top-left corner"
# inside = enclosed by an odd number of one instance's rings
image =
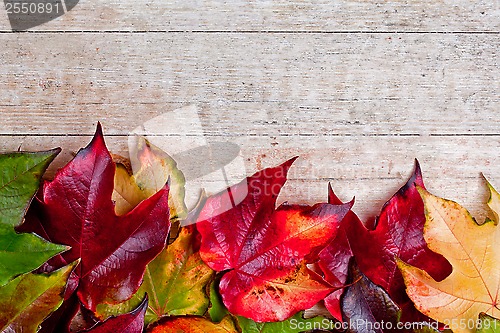
[[[114,172],[98,125],[92,142],[44,184],[23,227],[71,246],[45,269],[80,258],[69,290],[76,289],[92,311],[99,303],[122,302],[137,291],[146,265],[164,248],[170,228],[167,185],[130,213],[116,216],[111,200]]]

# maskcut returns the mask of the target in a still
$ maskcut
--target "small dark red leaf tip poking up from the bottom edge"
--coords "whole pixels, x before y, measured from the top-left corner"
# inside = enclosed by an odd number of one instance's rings
[[[144,330],[144,315],[148,308],[148,298],[144,297],[142,303],[132,312],[112,317],[103,323],[84,332],[89,333],[142,333]]]

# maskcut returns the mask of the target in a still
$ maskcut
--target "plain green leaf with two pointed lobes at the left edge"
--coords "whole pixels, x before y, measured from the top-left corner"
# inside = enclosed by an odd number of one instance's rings
[[[36,235],[14,231],[23,221],[45,169],[59,151],[0,154],[0,286],[67,250]]]

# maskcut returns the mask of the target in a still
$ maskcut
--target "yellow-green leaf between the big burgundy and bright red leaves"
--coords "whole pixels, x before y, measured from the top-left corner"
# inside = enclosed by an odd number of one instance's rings
[[[130,311],[145,293],[149,295],[146,324],[164,315],[203,315],[209,305],[205,289],[214,271],[201,260],[194,247],[195,237],[193,226],[182,228],[178,238],[147,266],[144,282],[132,299],[115,306],[98,306],[98,317]]]

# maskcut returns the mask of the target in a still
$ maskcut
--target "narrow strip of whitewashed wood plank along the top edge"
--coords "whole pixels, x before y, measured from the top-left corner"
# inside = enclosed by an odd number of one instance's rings
[[[42,31],[498,31],[498,0],[80,1]],[[10,29],[6,15],[0,29]]]

